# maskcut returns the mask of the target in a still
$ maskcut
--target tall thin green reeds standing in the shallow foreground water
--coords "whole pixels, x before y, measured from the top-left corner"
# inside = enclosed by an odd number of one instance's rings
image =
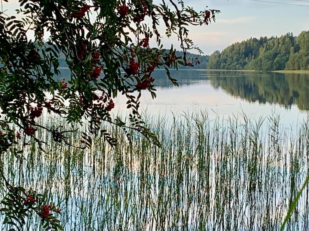
[[[36,189],[63,209],[65,230],[280,229],[307,177],[308,122],[296,132],[276,116],[210,121],[201,112],[147,122],[161,147],[133,131],[129,142],[111,127],[114,148],[96,138],[91,148],[76,149],[40,133],[46,153],[32,145],[23,161],[10,153],[1,160],[12,184]],[[79,145],[79,137],[70,142]],[[309,230],[308,189],[285,230]],[[24,230],[40,230],[39,218]]]

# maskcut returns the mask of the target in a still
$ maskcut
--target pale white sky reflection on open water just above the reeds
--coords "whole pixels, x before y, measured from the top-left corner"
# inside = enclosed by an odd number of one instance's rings
[[[149,92],[143,93],[141,108],[147,109],[151,114],[170,116],[171,113],[183,111],[207,110],[210,119],[245,113],[248,117],[258,120],[260,116],[266,117],[275,111],[276,114],[280,114],[281,123],[286,125],[297,120],[303,121],[308,114],[307,111],[300,111],[297,105],[291,105],[290,109],[286,109],[283,105],[275,103],[248,102],[239,96],[231,96],[221,87],[215,89],[210,80],[193,80],[191,85],[181,87],[158,87],[157,98],[154,100]],[[125,110],[125,102],[125,97],[119,97],[115,105]]]

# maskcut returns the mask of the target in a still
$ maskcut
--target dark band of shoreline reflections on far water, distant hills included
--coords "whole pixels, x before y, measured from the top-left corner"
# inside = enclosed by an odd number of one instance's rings
[[[222,89],[232,96],[248,102],[276,103],[287,109],[296,104],[300,110],[309,110],[309,75],[233,71],[171,71],[180,87],[203,84],[210,80],[215,89]],[[153,74],[156,84],[172,88],[162,71]]]

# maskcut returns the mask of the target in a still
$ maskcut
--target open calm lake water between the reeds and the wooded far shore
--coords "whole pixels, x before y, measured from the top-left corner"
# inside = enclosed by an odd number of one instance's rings
[[[67,69],[61,72],[62,76],[59,76],[59,79],[70,75]],[[171,77],[178,80],[180,87],[172,85],[164,70],[156,70],[152,76],[155,78],[157,98],[153,100],[148,91],[142,91],[140,105],[142,110],[147,110],[151,115],[167,116],[172,116],[172,113],[183,114],[184,111],[206,110],[210,119],[216,116],[228,118],[233,114],[245,113],[249,118],[256,120],[261,116],[272,115],[275,111],[276,114],[280,114],[280,121],[285,125],[297,124],[297,121],[303,121],[308,115],[307,111],[299,110],[293,103],[298,99],[307,99],[307,95],[304,94],[309,92],[306,91],[309,89],[303,86],[309,83],[309,75],[205,70],[171,70],[170,72]],[[243,87],[252,87],[255,90],[252,97],[266,99],[265,102],[259,103],[258,100],[249,102],[248,99],[241,98],[246,94],[251,96],[250,89],[243,89]],[[228,93],[231,89],[233,95]],[[290,92],[285,93],[286,90]],[[298,96],[293,95],[294,91],[299,92]],[[243,95],[239,96],[238,93]],[[292,95],[292,102],[288,107],[275,102],[276,99],[289,100],[289,95]],[[127,99],[123,95],[119,94],[114,101],[115,112],[122,110],[123,115],[129,113],[125,104]],[[306,105],[304,107],[306,108]]]

